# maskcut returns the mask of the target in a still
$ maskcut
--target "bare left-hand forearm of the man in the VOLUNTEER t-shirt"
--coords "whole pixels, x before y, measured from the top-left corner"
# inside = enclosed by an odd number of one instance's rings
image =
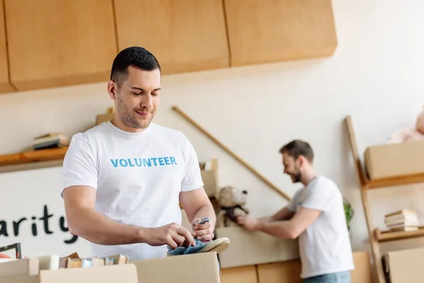
[[[119,223],[94,209],[83,209],[78,211],[78,216],[69,216],[69,232],[91,243],[110,246],[143,241],[143,228]]]

